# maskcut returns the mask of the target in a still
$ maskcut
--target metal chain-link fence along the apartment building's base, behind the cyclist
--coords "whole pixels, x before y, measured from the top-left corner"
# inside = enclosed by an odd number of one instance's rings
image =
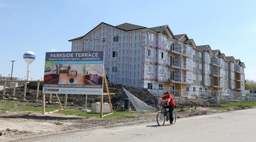
[[[172,90],[172,88],[159,88],[153,90],[151,93],[160,98],[163,93],[168,91],[173,95],[177,104],[184,103],[231,103],[231,102],[255,102],[256,94],[243,93],[243,92],[218,92],[218,91],[187,91],[184,90]]]

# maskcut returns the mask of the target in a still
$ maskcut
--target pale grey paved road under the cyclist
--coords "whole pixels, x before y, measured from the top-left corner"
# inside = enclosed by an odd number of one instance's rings
[[[52,135],[25,141],[256,141],[256,109],[157,123]]]

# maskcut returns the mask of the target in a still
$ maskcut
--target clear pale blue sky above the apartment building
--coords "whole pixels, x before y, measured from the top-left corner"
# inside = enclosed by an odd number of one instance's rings
[[[26,51],[36,54],[29,80],[44,76],[45,54],[71,51],[68,40],[87,34],[101,22],[145,27],[168,25],[196,45],[210,45],[245,63],[245,79],[256,80],[256,1],[86,1],[0,0],[2,76],[25,78]],[[10,75],[9,75],[10,74]]]

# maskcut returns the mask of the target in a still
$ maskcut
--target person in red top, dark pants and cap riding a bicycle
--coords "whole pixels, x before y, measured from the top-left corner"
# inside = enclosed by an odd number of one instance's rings
[[[169,117],[170,117],[170,124],[173,123],[173,110],[175,107],[175,102],[173,99],[173,96],[171,94],[169,94],[167,91],[164,92],[164,95],[160,98],[159,100],[159,104],[158,107],[160,108],[160,104],[162,101],[166,101],[166,106],[164,106],[164,109],[166,110],[166,108],[169,108]],[[168,119],[168,116],[167,116]]]

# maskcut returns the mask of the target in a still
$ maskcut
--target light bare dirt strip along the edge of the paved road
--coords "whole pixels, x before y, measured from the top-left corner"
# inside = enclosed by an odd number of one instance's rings
[[[16,103],[18,103],[18,105],[38,105],[31,102],[28,104],[28,102],[16,101]],[[245,108],[247,107],[218,110],[213,109],[212,107],[202,107],[191,104],[183,106],[183,108],[176,113],[177,118],[179,119]],[[143,115],[138,117],[127,117],[125,119],[100,119],[99,117],[84,118],[78,116],[60,115],[58,113],[42,115],[41,112],[8,112],[1,111],[0,108],[0,141],[13,141],[29,137],[67,133],[70,131],[90,130],[101,127],[108,128],[156,122],[157,112],[158,111],[152,113],[143,113]]]

